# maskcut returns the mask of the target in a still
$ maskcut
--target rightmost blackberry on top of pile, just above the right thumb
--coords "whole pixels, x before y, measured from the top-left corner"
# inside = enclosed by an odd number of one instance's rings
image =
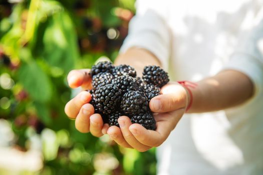
[[[159,87],[162,87],[167,82],[169,82],[167,72],[165,72],[161,67],[156,65],[145,66],[143,69],[142,78],[147,83],[151,83]]]

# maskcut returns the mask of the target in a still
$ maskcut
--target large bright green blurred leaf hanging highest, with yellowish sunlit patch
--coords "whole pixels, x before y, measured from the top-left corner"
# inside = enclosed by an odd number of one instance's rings
[[[66,72],[74,68],[79,57],[77,36],[71,18],[65,11],[55,13],[49,19],[43,35],[43,57],[52,66]]]

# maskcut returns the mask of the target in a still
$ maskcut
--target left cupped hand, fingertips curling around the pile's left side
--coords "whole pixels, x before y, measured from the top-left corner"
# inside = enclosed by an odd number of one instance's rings
[[[72,70],[68,74],[68,83],[71,88],[81,86],[84,90],[91,89],[90,69]],[[102,136],[106,133],[109,125],[104,124],[102,117],[94,113],[94,107],[89,104],[91,94],[82,91],[72,98],[65,106],[65,113],[69,118],[75,119],[75,127],[83,133],[91,132],[94,136]]]

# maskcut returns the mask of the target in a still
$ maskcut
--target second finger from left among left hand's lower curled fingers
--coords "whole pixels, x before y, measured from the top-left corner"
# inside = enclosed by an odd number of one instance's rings
[[[94,107],[87,103],[84,104],[75,120],[75,127],[78,131],[87,133],[90,131],[90,115],[94,113]]]

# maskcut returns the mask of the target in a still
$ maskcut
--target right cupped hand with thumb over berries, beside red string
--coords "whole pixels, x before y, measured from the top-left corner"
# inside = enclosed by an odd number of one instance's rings
[[[121,116],[118,119],[120,128],[111,126],[107,130],[111,139],[138,151],[162,144],[184,114],[188,95],[185,88],[176,82],[165,85],[161,92],[150,101],[150,109],[155,112],[156,130],[147,130],[140,124],[132,124],[129,117]]]

